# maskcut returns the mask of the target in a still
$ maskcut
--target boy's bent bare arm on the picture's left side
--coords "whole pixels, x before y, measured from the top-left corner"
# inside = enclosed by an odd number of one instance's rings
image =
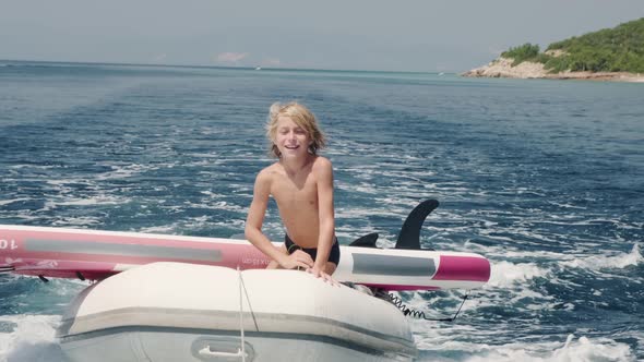
[[[265,170],[262,170],[255,179],[253,200],[250,204],[248,217],[246,219],[246,239],[248,239],[248,241],[250,241],[262,253],[276,261],[285,268],[295,268],[298,266],[308,268],[309,265],[305,263],[306,258],[302,260],[302,255],[300,255],[301,253],[294,253],[297,255],[290,255],[289,257],[282,253],[278,248],[275,248],[271,240],[269,240],[269,238],[262,233],[262,224],[264,222],[264,216],[266,215],[266,208],[269,207],[270,195],[270,174]]]

